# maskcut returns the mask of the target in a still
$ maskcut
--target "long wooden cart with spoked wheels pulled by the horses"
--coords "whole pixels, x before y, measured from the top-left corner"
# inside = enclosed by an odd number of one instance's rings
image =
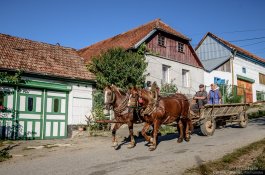
[[[216,125],[237,123],[245,128],[248,124],[246,114],[248,103],[205,105],[197,114],[191,112],[194,126],[199,126],[203,135],[213,135]]]

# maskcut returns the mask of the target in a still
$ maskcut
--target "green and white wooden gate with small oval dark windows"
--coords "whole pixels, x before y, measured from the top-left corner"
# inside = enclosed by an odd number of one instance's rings
[[[68,92],[1,87],[0,138],[53,139],[67,136]],[[2,108],[2,107],[1,107]],[[7,109],[7,110],[6,110]],[[9,110],[10,109],[10,110]]]

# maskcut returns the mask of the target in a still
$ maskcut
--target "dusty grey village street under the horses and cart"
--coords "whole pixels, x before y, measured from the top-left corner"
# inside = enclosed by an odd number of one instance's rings
[[[89,137],[81,139],[82,142],[68,142],[71,147],[45,148],[46,151],[33,150],[28,156],[14,156],[0,163],[0,174],[176,175],[264,137],[265,117],[253,119],[247,128],[228,126],[217,129],[210,137],[193,134],[188,143],[178,144],[176,134],[160,136],[161,142],[152,152],[148,151],[142,138],[137,139],[133,149],[127,149],[124,144],[119,150],[114,150],[110,137]],[[24,150],[20,154],[27,151],[32,150]]]

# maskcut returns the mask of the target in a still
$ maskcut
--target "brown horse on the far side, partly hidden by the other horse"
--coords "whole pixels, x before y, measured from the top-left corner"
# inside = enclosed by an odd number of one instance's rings
[[[118,141],[116,138],[116,131],[123,125],[127,124],[131,142],[128,148],[135,147],[135,140],[133,136],[133,124],[140,120],[136,112],[132,108],[128,108],[129,95],[120,91],[116,86],[106,86],[104,89],[104,104],[105,109],[113,108],[115,123],[112,129],[113,147],[118,148]]]

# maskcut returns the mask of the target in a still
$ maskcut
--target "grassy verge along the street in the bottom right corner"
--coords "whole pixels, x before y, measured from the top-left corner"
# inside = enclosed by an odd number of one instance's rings
[[[235,150],[234,152],[227,154],[223,156],[221,159],[215,160],[215,161],[209,161],[205,164],[202,164],[195,168],[187,169],[184,174],[201,174],[201,175],[208,175],[208,174],[214,174],[216,172],[224,172],[229,173],[229,171],[235,171],[237,170],[237,167],[231,167],[233,163],[236,163],[241,156],[247,155],[251,153],[252,151],[256,151],[258,149],[263,149],[263,152],[261,155],[257,157],[257,159],[253,162],[252,165],[249,165],[249,168],[256,167],[254,170],[264,170],[265,167],[265,139],[262,139],[260,141],[254,142],[248,146],[239,148]],[[246,168],[247,169],[247,168]],[[252,169],[253,170],[253,169]]]

